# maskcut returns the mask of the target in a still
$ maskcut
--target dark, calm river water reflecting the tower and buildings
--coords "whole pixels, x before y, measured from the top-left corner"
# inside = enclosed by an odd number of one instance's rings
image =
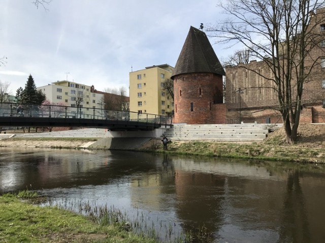
[[[192,227],[204,227],[214,242],[325,237],[325,167],[315,164],[0,148],[0,193],[26,188],[67,208],[75,201],[114,207],[163,241]]]

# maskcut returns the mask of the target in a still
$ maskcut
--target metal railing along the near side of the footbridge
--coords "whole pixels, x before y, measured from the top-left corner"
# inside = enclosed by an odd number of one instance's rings
[[[0,117],[1,116],[107,119],[117,121],[141,121],[144,123],[160,125],[166,125],[168,123],[168,117],[165,115],[89,108],[82,107],[82,105],[79,107],[72,107],[60,105],[0,103]]]

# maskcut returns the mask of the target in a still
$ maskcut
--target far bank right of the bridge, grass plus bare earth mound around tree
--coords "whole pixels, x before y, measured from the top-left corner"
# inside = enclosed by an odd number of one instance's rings
[[[161,141],[152,140],[139,150],[323,164],[325,163],[325,125],[300,125],[298,140],[290,145],[285,142],[284,129],[280,128],[259,143],[172,141],[168,144],[168,151],[164,151]]]

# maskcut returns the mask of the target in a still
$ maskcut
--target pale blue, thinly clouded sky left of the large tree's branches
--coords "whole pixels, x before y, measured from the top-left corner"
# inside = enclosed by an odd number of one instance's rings
[[[0,0],[0,80],[12,95],[29,74],[37,87],[68,78],[128,91],[129,72],[174,67],[190,26],[220,17],[216,0],[52,0],[48,11],[31,2]],[[219,60],[230,55],[213,48]]]

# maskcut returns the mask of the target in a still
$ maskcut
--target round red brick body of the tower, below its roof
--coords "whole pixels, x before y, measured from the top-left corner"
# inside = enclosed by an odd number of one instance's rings
[[[186,73],[174,77],[175,123],[215,124],[222,120],[219,114],[225,114],[224,105],[215,105],[222,100],[221,75]]]

